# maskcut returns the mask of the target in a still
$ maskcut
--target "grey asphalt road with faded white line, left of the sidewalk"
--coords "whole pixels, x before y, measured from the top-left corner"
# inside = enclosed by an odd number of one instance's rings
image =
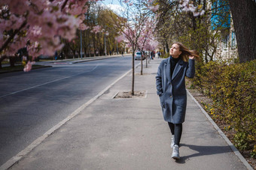
[[[139,61],[136,61],[139,63]],[[131,69],[131,56],[0,75],[0,165]]]

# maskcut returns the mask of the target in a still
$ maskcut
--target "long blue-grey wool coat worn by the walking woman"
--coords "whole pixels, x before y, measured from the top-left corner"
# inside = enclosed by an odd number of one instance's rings
[[[194,64],[194,59],[189,59],[188,62],[180,59],[175,66],[171,79],[170,58],[161,61],[157,70],[156,84],[165,121],[172,124],[184,122],[187,106],[185,76],[194,77]]]

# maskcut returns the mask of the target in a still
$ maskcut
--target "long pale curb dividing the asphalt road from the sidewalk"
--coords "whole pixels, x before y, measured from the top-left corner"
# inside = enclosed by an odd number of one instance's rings
[[[139,63],[140,64],[140,63]],[[135,66],[138,67],[139,64]],[[105,91],[108,91],[109,88],[111,88],[115,83],[117,83],[120,79],[123,79],[124,76],[126,76],[128,73],[130,73],[133,69],[128,70],[126,73],[124,73],[122,76],[120,76],[118,79],[116,79],[114,82],[112,82],[108,87],[104,88],[102,91],[99,92],[95,97],[87,101],[87,103],[84,103],[82,106],[80,106],[78,109],[76,109],[72,114],[70,114],[67,118],[60,121],[58,124],[50,128],[50,130],[47,130],[44,135],[38,137],[38,139],[35,139],[29,146],[27,146],[23,151],[20,151],[16,156],[11,157],[7,162],[5,162],[2,166],[0,166],[0,170],[10,169],[11,166],[14,166],[15,163],[22,160],[24,156],[29,154],[35,147],[41,144],[41,142],[44,141],[48,136],[50,136],[52,133],[54,133],[56,130],[59,129],[59,127],[62,127],[63,124],[66,124],[66,122],[70,121],[72,118],[74,118],[76,115],[78,115],[83,109],[85,109],[87,106],[89,106],[91,103],[93,103],[96,99],[98,99],[102,94],[105,93]]]

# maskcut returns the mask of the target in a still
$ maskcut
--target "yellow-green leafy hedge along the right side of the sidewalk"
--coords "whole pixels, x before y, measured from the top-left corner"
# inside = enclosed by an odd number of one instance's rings
[[[256,60],[225,65],[216,61],[198,63],[192,85],[212,98],[211,114],[235,132],[233,142],[240,151],[251,150],[256,158]]]

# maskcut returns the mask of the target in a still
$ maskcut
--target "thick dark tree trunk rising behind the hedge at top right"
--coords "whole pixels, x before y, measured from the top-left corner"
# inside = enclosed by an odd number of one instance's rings
[[[252,0],[229,0],[239,61],[244,63],[256,58],[256,2]]]

